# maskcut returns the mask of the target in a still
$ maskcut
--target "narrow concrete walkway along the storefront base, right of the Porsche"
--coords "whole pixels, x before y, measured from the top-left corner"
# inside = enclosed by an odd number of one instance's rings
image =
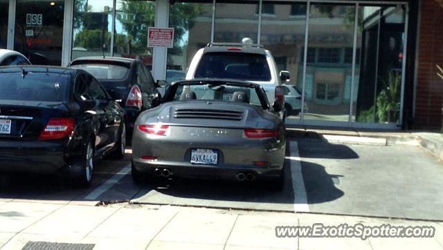
[[[437,132],[287,128],[287,135],[295,138],[301,136],[323,139],[331,143],[415,145],[443,160],[443,135]]]

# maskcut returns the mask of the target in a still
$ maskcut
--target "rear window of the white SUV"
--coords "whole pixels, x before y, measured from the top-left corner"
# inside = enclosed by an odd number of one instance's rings
[[[206,53],[201,57],[195,78],[230,78],[269,81],[266,55],[251,53]]]

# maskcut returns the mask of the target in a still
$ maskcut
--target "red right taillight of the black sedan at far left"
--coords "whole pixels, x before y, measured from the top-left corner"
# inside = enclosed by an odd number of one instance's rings
[[[74,129],[73,118],[51,118],[40,133],[40,140],[62,139],[71,134]]]

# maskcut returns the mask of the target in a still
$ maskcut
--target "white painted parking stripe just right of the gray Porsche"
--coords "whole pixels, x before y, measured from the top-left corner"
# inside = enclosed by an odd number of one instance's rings
[[[295,212],[309,212],[309,205],[307,204],[307,195],[305,188],[305,181],[302,175],[302,165],[300,154],[298,153],[298,143],[296,141],[291,141],[290,150],[291,157],[291,179],[292,179],[292,189],[293,189],[293,210]]]

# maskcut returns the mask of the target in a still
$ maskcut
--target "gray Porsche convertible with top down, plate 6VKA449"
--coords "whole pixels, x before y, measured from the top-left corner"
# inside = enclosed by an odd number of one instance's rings
[[[174,82],[159,107],[136,120],[132,179],[264,179],[282,188],[286,147],[278,102],[259,84],[196,79]]]

